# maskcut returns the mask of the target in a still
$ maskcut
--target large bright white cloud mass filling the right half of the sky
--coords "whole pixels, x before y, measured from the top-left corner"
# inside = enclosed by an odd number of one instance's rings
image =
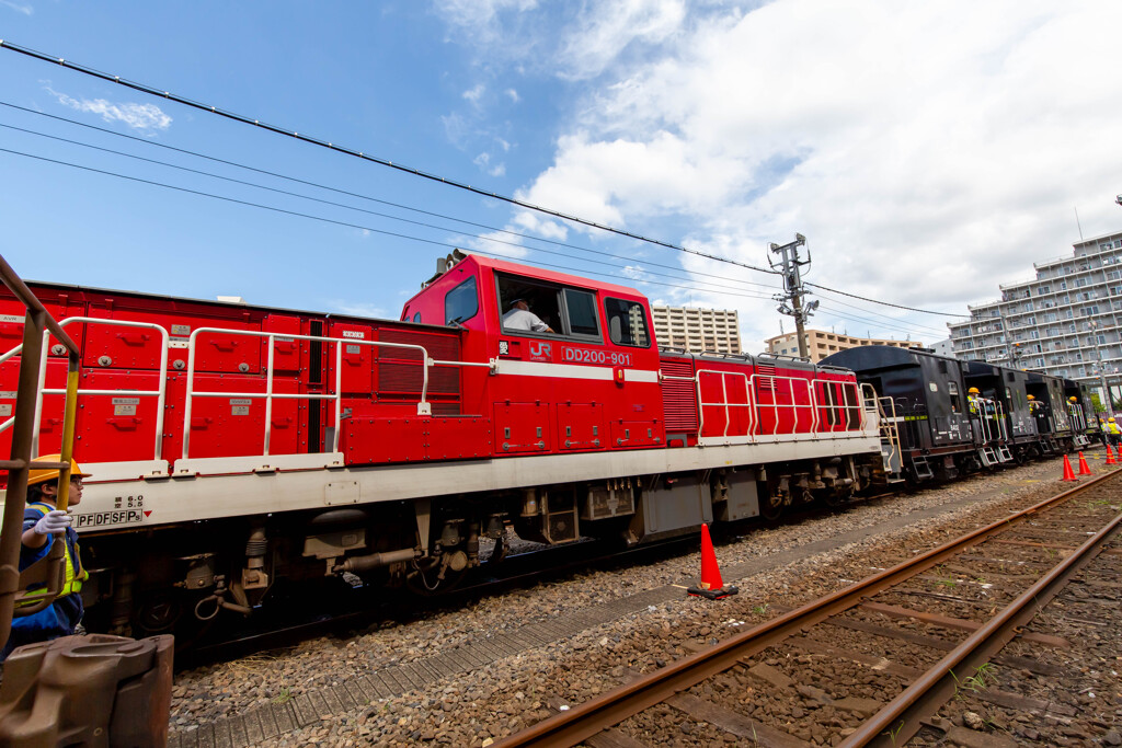
[[[752,265],[798,231],[810,239],[808,280],[947,312],[1070,252],[1073,206],[1088,236],[1119,228],[1122,3],[582,8],[550,29],[552,47],[545,31],[527,40],[552,49],[541,67],[579,82],[552,165],[518,194],[531,203]],[[757,340],[779,332],[773,302],[692,293],[739,307]],[[937,317],[888,322],[874,315],[903,313],[821,298],[821,326],[946,336]]]

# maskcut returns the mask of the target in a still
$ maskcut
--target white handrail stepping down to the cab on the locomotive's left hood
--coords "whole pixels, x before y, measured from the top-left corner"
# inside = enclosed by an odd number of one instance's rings
[[[232,335],[246,335],[249,338],[266,338],[268,339],[268,362],[266,364],[266,379],[265,379],[265,391],[264,393],[230,393],[230,391],[218,391],[218,390],[195,390],[194,389],[194,371],[195,371],[195,343],[200,333],[223,333]],[[289,340],[306,340],[306,341],[318,341],[321,343],[333,344],[335,347],[335,391],[334,394],[323,394],[323,395],[312,395],[309,393],[274,393],[273,391],[273,364],[274,354],[276,347],[274,345],[275,339],[284,338],[286,341]],[[415,350],[421,352],[422,360],[420,363],[423,366],[422,369],[422,384],[421,384],[421,400],[417,403],[417,415],[426,416],[432,415],[432,404],[427,401],[426,397],[429,394],[429,369],[435,366],[445,367],[478,367],[486,368],[490,371],[495,371],[495,362],[490,361],[488,363],[478,363],[473,361],[438,361],[429,355],[429,351],[423,345],[414,345],[410,343],[386,343],[381,341],[373,340],[355,340],[352,338],[327,338],[323,335],[292,335],[277,332],[260,332],[255,330],[230,330],[227,327],[197,327],[191,333],[191,338],[187,341],[187,391],[186,398],[183,407],[183,459],[187,459],[187,450],[191,447],[191,405],[192,398],[194,397],[229,397],[229,398],[265,398],[265,451],[263,455],[268,455],[269,453],[269,438],[273,433],[273,399],[306,399],[306,400],[334,400],[335,401],[335,430],[332,435],[331,451],[339,451],[339,434],[341,428],[340,416],[342,413],[342,355],[343,345],[366,345],[369,348],[401,348]]]

